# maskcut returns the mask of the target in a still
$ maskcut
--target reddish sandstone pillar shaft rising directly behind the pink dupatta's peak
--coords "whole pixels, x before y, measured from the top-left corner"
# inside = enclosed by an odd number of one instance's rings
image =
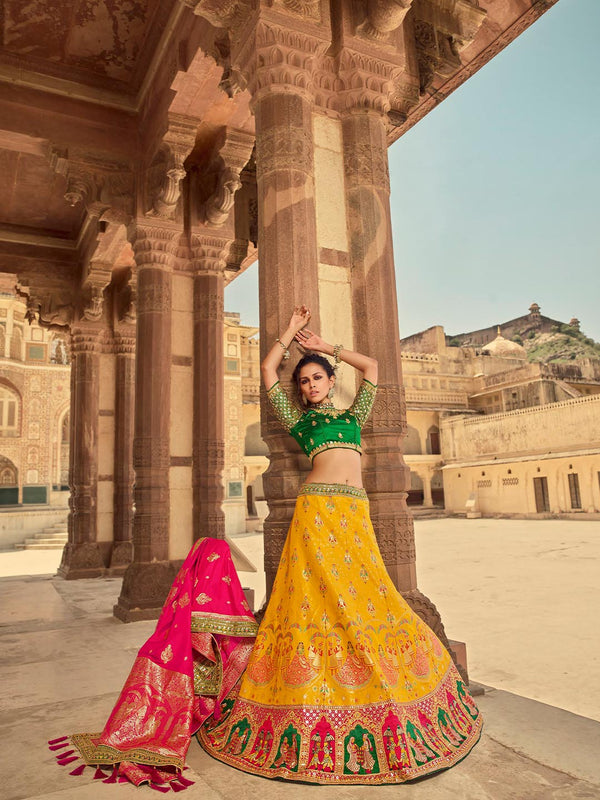
[[[225,538],[224,288],[218,267],[194,276],[194,540]]]

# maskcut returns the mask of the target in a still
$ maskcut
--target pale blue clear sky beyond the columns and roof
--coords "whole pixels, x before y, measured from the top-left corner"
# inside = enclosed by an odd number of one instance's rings
[[[600,341],[600,0],[559,0],[389,151],[400,333],[527,313]],[[225,293],[258,324],[254,265]]]

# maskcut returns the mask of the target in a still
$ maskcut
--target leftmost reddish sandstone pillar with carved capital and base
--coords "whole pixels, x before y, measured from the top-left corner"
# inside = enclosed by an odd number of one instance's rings
[[[97,542],[98,412],[101,326],[85,322],[71,329],[71,447],[69,454],[69,541],[58,574],[95,578],[104,572]]]

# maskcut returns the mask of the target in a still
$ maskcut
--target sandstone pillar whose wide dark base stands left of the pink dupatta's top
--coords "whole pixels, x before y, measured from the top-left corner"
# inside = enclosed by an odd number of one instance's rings
[[[134,560],[114,614],[155,617],[175,577],[169,562],[172,251],[174,228],[138,224],[135,367]]]

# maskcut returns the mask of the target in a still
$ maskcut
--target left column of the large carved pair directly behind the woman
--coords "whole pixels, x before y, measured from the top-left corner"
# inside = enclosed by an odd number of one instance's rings
[[[319,329],[311,81],[314,61],[327,48],[329,37],[325,21],[320,29],[324,39],[312,23],[309,30],[306,19],[270,16],[263,8],[255,23],[251,57],[244,65],[256,120],[261,357],[286,329],[296,304],[311,308]],[[290,380],[295,361],[282,364],[284,382]],[[308,461],[281,431],[264,393],[261,418],[270,451],[264,475],[270,512],[265,521],[269,593]]]

